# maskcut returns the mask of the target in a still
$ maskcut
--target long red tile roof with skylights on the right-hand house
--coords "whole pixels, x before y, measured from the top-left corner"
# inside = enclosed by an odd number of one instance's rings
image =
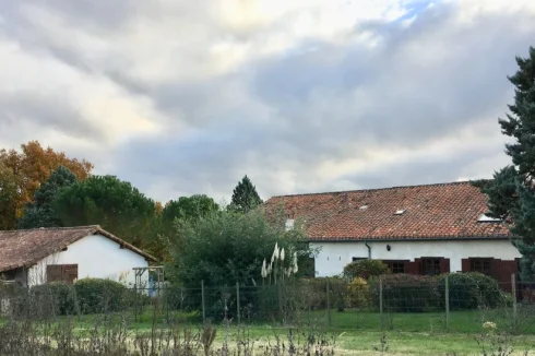
[[[367,207],[362,207],[367,205]],[[311,240],[508,238],[478,222],[487,198],[471,182],[273,197],[265,207],[302,218]],[[397,210],[405,210],[395,215]]]

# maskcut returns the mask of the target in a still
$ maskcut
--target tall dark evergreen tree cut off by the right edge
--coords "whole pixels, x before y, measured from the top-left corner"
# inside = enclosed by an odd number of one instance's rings
[[[513,139],[506,145],[512,165],[475,185],[489,198],[489,212],[502,218],[515,236],[522,254],[521,278],[535,281],[535,48],[527,58],[516,57],[519,70],[509,79],[515,86],[510,114],[499,119],[502,133]]]

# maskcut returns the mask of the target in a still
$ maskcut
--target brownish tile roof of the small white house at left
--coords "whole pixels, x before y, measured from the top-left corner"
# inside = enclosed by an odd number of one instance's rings
[[[98,225],[0,230],[0,272],[31,266],[90,235],[103,235],[150,261],[156,261],[151,254],[111,235]]]

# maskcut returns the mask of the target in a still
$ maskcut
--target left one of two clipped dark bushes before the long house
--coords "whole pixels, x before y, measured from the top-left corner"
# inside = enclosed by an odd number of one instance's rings
[[[421,312],[440,306],[436,278],[427,275],[388,274],[381,276],[383,306],[390,311]],[[379,277],[370,281],[372,298],[379,305]]]

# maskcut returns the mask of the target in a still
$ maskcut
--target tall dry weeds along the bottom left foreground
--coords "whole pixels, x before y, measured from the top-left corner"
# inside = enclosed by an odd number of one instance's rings
[[[254,337],[247,328],[198,328],[152,320],[150,330],[131,328],[126,312],[100,315],[93,324],[76,328],[71,317],[10,319],[0,324],[0,355],[10,356],[156,356],[156,355],[317,355],[335,354],[335,336],[319,328],[288,328],[285,336]],[[219,337],[217,337],[219,336]]]

